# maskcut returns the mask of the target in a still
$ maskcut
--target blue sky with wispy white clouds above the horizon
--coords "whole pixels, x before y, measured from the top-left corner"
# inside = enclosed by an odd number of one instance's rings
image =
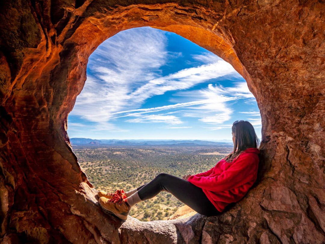
[[[251,122],[261,139],[256,99],[229,63],[175,33],[141,27],[90,55],[68,135],[231,140],[235,120]]]

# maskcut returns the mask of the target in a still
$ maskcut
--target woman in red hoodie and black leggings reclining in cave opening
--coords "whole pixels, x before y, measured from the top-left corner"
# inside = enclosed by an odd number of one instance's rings
[[[117,190],[112,194],[99,191],[100,206],[125,220],[132,206],[167,191],[202,215],[219,214],[229,203],[244,197],[257,178],[259,139],[252,124],[237,120],[231,130],[234,149],[212,169],[184,175],[182,179],[161,173],[149,183],[128,192]]]

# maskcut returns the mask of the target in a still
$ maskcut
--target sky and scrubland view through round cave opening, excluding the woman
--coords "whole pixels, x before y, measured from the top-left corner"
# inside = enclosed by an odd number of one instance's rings
[[[90,55],[67,132],[98,191],[129,191],[159,173],[181,178],[210,169],[232,151],[237,119],[261,138],[256,99],[229,63],[173,32],[138,27]],[[163,191],[130,216],[153,221],[195,213]]]

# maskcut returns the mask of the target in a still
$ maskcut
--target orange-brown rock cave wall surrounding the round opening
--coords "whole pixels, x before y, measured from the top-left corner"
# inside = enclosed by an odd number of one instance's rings
[[[3,243],[324,243],[323,1],[4,1],[0,4]],[[258,181],[219,216],[104,214],[67,135],[89,55],[133,27],[228,61],[262,117]]]

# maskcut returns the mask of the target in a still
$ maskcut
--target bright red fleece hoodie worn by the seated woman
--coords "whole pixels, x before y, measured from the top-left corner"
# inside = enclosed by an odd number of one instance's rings
[[[221,159],[212,169],[188,177],[188,181],[202,188],[215,208],[222,212],[232,202],[239,201],[257,178],[258,148],[247,148],[232,162]]]

